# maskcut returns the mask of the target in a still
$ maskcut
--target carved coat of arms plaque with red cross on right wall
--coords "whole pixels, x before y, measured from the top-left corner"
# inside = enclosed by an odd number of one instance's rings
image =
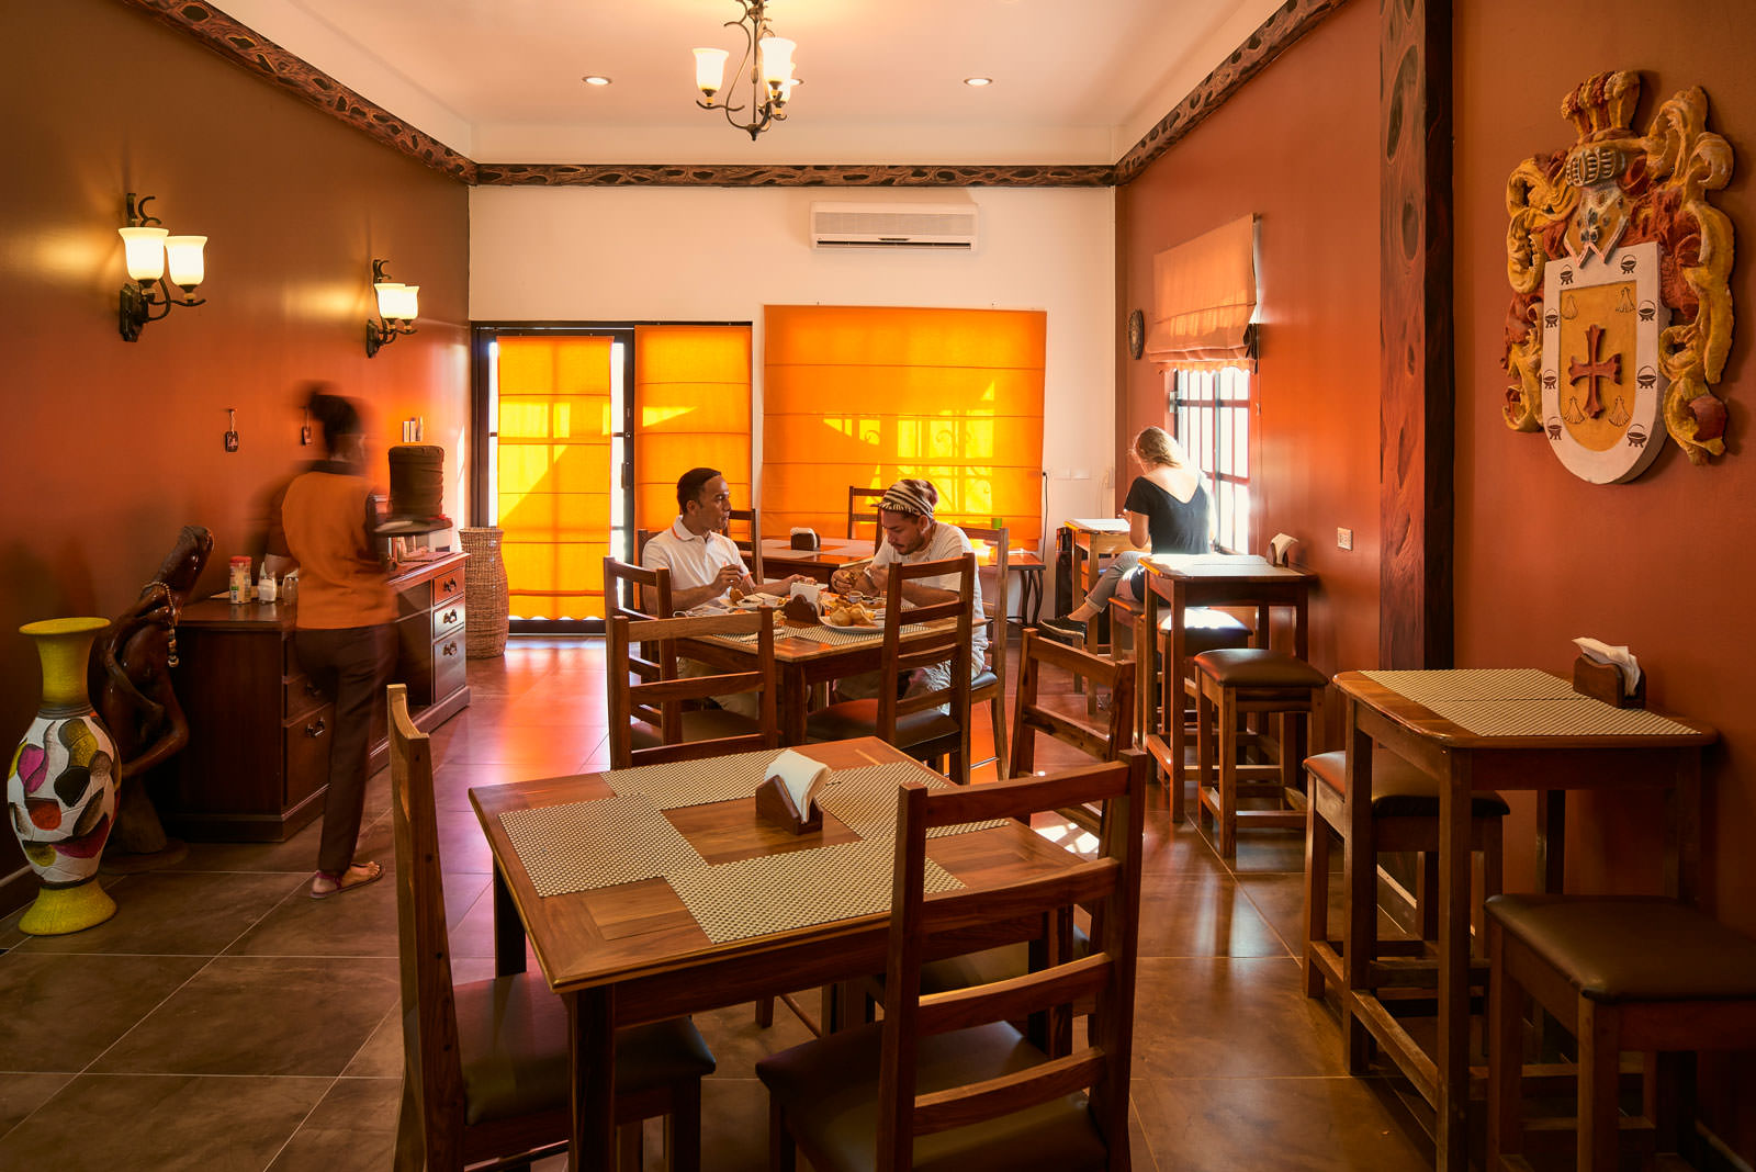
[[[1594,484],[1640,475],[1659,428],[1691,463],[1724,453],[1731,221],[1707,191],[1731,177],[1731,147],[1700,88],[1645,135],[1628,130],[1638,98],[1638,74],[1586,79],[1561,102],[1573,147],[1507,181],[1505,419]]]

